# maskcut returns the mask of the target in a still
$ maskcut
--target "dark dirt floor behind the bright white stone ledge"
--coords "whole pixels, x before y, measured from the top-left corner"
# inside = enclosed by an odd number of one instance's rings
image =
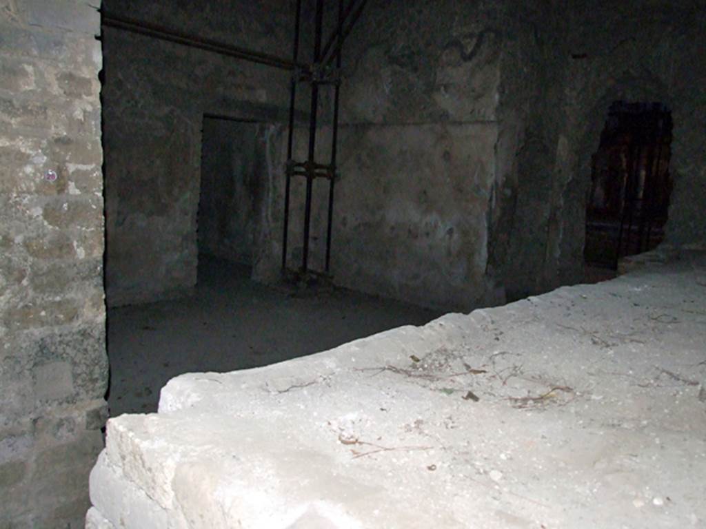
[[[109,310],[111,416],[157,411],[160,388],[182,373],[268,365],[439,315],[338,288],[268,288],[205,255],[198,272],[189,298]]]

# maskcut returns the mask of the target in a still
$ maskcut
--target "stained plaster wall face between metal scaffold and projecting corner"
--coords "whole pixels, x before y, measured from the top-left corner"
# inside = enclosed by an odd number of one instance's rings
[[[445,308],[503,301],[486,275],[503,18],[481,1],[367,4],[344,59],[340,284]]]

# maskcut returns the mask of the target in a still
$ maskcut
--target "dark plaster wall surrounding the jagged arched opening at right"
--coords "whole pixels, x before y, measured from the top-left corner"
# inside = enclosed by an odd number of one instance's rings
[[[706,237],[706,5],[698,1],[607,1],[571,5],[570,59],[554,166],[548,264],[558,283],[575,281],[584,243],[590,155],[611,102],[659,101],[674,118],[674,193],[667,243]]]

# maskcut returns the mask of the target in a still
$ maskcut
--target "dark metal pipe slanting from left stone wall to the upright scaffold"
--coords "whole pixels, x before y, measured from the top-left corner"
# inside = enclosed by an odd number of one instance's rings
[[[225,44],[224,42],[218,42],[212,39],[194,37],[184,32],[164,28],[160,25],[145,23],[132,18],[116,17],[103,13],[102,25],[108,28],[116,28],[140,35],[147,35],[148,37],[154,37],[155,39],[165,40],[167,42],[175,42],[184,46],[211,51],[236,59],[265,64],[266,66],[273,66],[274,68],[282,68],[283,70],[294,71],[297,68],[304,71],[310,70],[309,66],[303,63],[289,61],[275,55],[265,54],[261,51],[232,46],[231,44]]]

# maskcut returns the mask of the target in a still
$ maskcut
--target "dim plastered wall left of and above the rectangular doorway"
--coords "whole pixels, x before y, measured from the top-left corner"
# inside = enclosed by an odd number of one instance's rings
[[[269,53],[290,46],[289,9],[279,6],[104,4],[115,16]],[[283,122],[289,75],[110,28],[104,55],[108,303],[179,296],[196,284],[203,115]]]

